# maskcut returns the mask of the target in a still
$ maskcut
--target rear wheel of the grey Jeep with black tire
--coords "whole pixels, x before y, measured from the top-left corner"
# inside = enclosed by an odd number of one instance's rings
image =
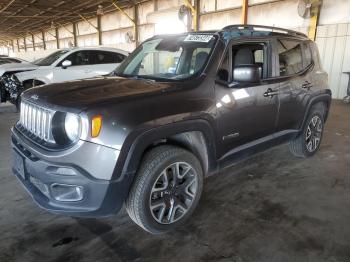
[[[306,158],[313,156],[320,148],[324,130],[325,109],[323,103],[317,103],[312,106],[302,132],[290,141],[289,149],[296,157]],[[315,119],[317,120],[317,126],[314,125]],[[312,137],[310,138],[310,136],[315,137],[318,142],[311,141]]]

